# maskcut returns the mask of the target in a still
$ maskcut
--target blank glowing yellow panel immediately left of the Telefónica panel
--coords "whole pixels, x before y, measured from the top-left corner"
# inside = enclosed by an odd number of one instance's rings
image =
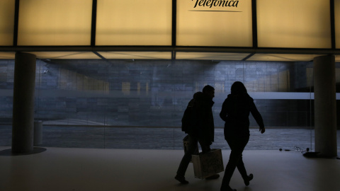
[[[171,0],[98,0],[96,45],[171,45]]]

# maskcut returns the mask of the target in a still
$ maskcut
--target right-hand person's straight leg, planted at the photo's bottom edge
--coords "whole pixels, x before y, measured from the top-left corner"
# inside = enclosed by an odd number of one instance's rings
[[[247,141],[239,139],[239,137],[229,137],[227,139],[227,143],[229,144],[229,147],[232,151],[230,152],[229,161],[225,168],[225,175],[223,176],[221,191],[231,190],[231,188],[229,187],[230,179],[232,178],[232,174],[234,173],[235,168],[242,158],[242,152],[244,150],[244,147],[246,146]],[[240,168],[244,167],[244,164],[242,165],[242,163],[239,164]]]

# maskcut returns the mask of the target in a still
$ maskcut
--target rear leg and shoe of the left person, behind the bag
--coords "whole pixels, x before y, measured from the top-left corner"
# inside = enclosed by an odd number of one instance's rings
[[[179,180],[181,183],[188,183],[188,181],[185,180],[184,175],[186,174],[186,169],[188,168],[188,165],[191,161],[191,155],[196,151],[197,149],[197,143],[198,140],[196,137],[193,137],[189,135],[188,137],[188,150],[184,154],[181,163],[179,164],[179,168],[177,170],[176,180]]]

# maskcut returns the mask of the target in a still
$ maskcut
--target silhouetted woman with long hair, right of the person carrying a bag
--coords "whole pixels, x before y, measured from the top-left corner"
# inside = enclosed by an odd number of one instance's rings
[[[249,113],[255,118],[261,133],[265,132],[261,114],[257,110],[253,98],[246,92],[244,84],[240,81],[234,82],[231,91],[232,93],[225,99],[220,112],[220,117],[225,121],[225,140],[232,150],[225,168],[221,191],[235,190],[229,186],[235,168],[241,173],[245,185],[249,185],[249,181],[253,179],[252,174],[246,173],[242,160],[242,152],[250,135]]]

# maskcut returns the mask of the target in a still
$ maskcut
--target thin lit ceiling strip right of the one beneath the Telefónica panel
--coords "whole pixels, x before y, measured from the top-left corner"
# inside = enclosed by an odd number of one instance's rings
[[[317,54],[255,54],[247,61],[282,61],[282,62],[310,62]]]

